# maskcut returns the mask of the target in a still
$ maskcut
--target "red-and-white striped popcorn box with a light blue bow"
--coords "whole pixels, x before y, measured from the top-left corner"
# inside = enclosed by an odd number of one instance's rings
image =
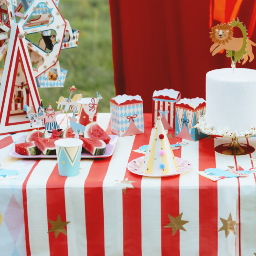
[[[157,117],[160,116],[166,130],[175,129],[175,104],[180,98],[180,92],[173,89],[154,91],[152,101],[152,127],[155,126]]]

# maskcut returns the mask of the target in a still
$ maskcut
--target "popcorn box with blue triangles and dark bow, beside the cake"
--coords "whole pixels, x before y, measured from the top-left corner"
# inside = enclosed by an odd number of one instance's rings
[[[198,141],[208,136],[194,128],[200,115],[205,113],[203,98],[181,99],[176,103],[175,109],[175,136],[191,141]]]

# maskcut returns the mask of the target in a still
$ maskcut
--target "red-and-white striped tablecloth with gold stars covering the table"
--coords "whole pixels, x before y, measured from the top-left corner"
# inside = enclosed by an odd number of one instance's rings
[[[113,156],[82,159],[75,177],[59,176],[56,159],[8,157],[21,134],[0,136],[4,167],[19,171],[16,179],[0,180],[0,255],[256,255],[255,173],[217,182],[197,174],[248,170],[256,152],[227,156],[214,148],[228,139],[188,141],[173,152],[190,161],[191,171],[139,176],[127,164],[141,156],[134,149],[148,144],[151,121],[144,114],[145,133],[119,138]],[[111,134],[109,113],[97,122]],[[256,147],[256,138],[240,140]],[[170,138],[178,141],[186,140]]]

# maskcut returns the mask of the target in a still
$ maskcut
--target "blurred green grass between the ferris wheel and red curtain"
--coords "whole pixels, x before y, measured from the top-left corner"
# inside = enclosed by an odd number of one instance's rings
[[[98,91],[103,97],[98,112],[109,112],[115,86],[108,0],[61,0],[58,8],[71,28],[80,31],[78,47],[60,53],[60,66],[68,71],[64,88],[38,88],[43,104],[51,102],[57,110],[55,102],[68,98],[68,88],[75,85],[83,97],[96,97]]]

